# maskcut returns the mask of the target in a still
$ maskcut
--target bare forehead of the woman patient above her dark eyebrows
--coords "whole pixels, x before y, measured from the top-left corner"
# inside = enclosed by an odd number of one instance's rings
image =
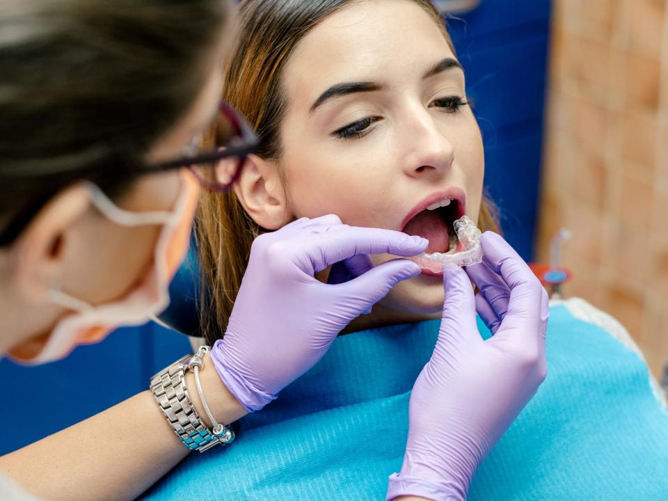
[[[411,0],[353,2],[328,15],[299,42],[283,72],[290,106],[308,111],[327,88],[351,81],[419,80],[454,57],[434,19]]]

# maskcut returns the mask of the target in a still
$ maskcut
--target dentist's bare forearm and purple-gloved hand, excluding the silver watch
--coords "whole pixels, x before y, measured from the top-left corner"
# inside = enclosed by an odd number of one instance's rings
[[[216,419],[228,424],[246,415],[247,408],[266,404],[315,364],[351,319],[369,310],[399,280],[420,273],[407,260],[371,269],[367,254],[409,256],[426,247],[424,239],[390,230],[351,228],[336,216],[300,219],[258,238],[228,333],[212,351],[214,364],[207,360],[207,369],[200,373]],[[314,278],[317,271],[337,262],[347,264],[357,277],[336,285]],[[195,391],[190,372],[186,386]],[[63,395],[63,405],[67,405],[66,398]],[[194,397],[192,401],[210,427],[200,400]],[[15,412],[20,419],[19,411]],[[0,470],[42,498],[131,500],[188,452],[152,392],[145,391],[2,456]]]

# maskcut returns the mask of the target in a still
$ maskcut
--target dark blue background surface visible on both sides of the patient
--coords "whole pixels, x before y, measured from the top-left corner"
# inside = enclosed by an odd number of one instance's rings
[[[527,260],[538,204],[549,13],[549,1],[482,0],[474,12],[450,21],[483,131],[486,184],[501,208],[507,238]],[[172,312],[182,310],[186,331],[196,321],[188,314],[194,296],[187,285],[189,268],[173,284],[182,294],[174,298]],[[147,324],[116,331],[101,344],[42,367],[1,360],[6,405],[0,413],[5,430],[0,454],[145,390],[154,372],[187,350],[185,337]],[[19,383],[30,390],[18,390]]]

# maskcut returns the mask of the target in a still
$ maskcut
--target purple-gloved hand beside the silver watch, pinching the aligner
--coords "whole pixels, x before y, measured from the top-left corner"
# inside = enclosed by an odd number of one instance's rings
[[[248,411],[264,407],[315,365],[352,319],[420,274],[408,260],[372,268],[367,255],[406,257],[427,245],[400,232],[343,225],[334,215],[302,218],[257,237],[225,337],[211,351],[223,383]],[[337,262],[358,276],[336,284],[314,277]]]

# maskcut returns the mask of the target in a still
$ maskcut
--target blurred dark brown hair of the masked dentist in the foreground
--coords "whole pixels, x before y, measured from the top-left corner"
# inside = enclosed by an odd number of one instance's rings
[[[70,184],[127,184],[200,95],[232,5],[0,0],[3,244]]]

